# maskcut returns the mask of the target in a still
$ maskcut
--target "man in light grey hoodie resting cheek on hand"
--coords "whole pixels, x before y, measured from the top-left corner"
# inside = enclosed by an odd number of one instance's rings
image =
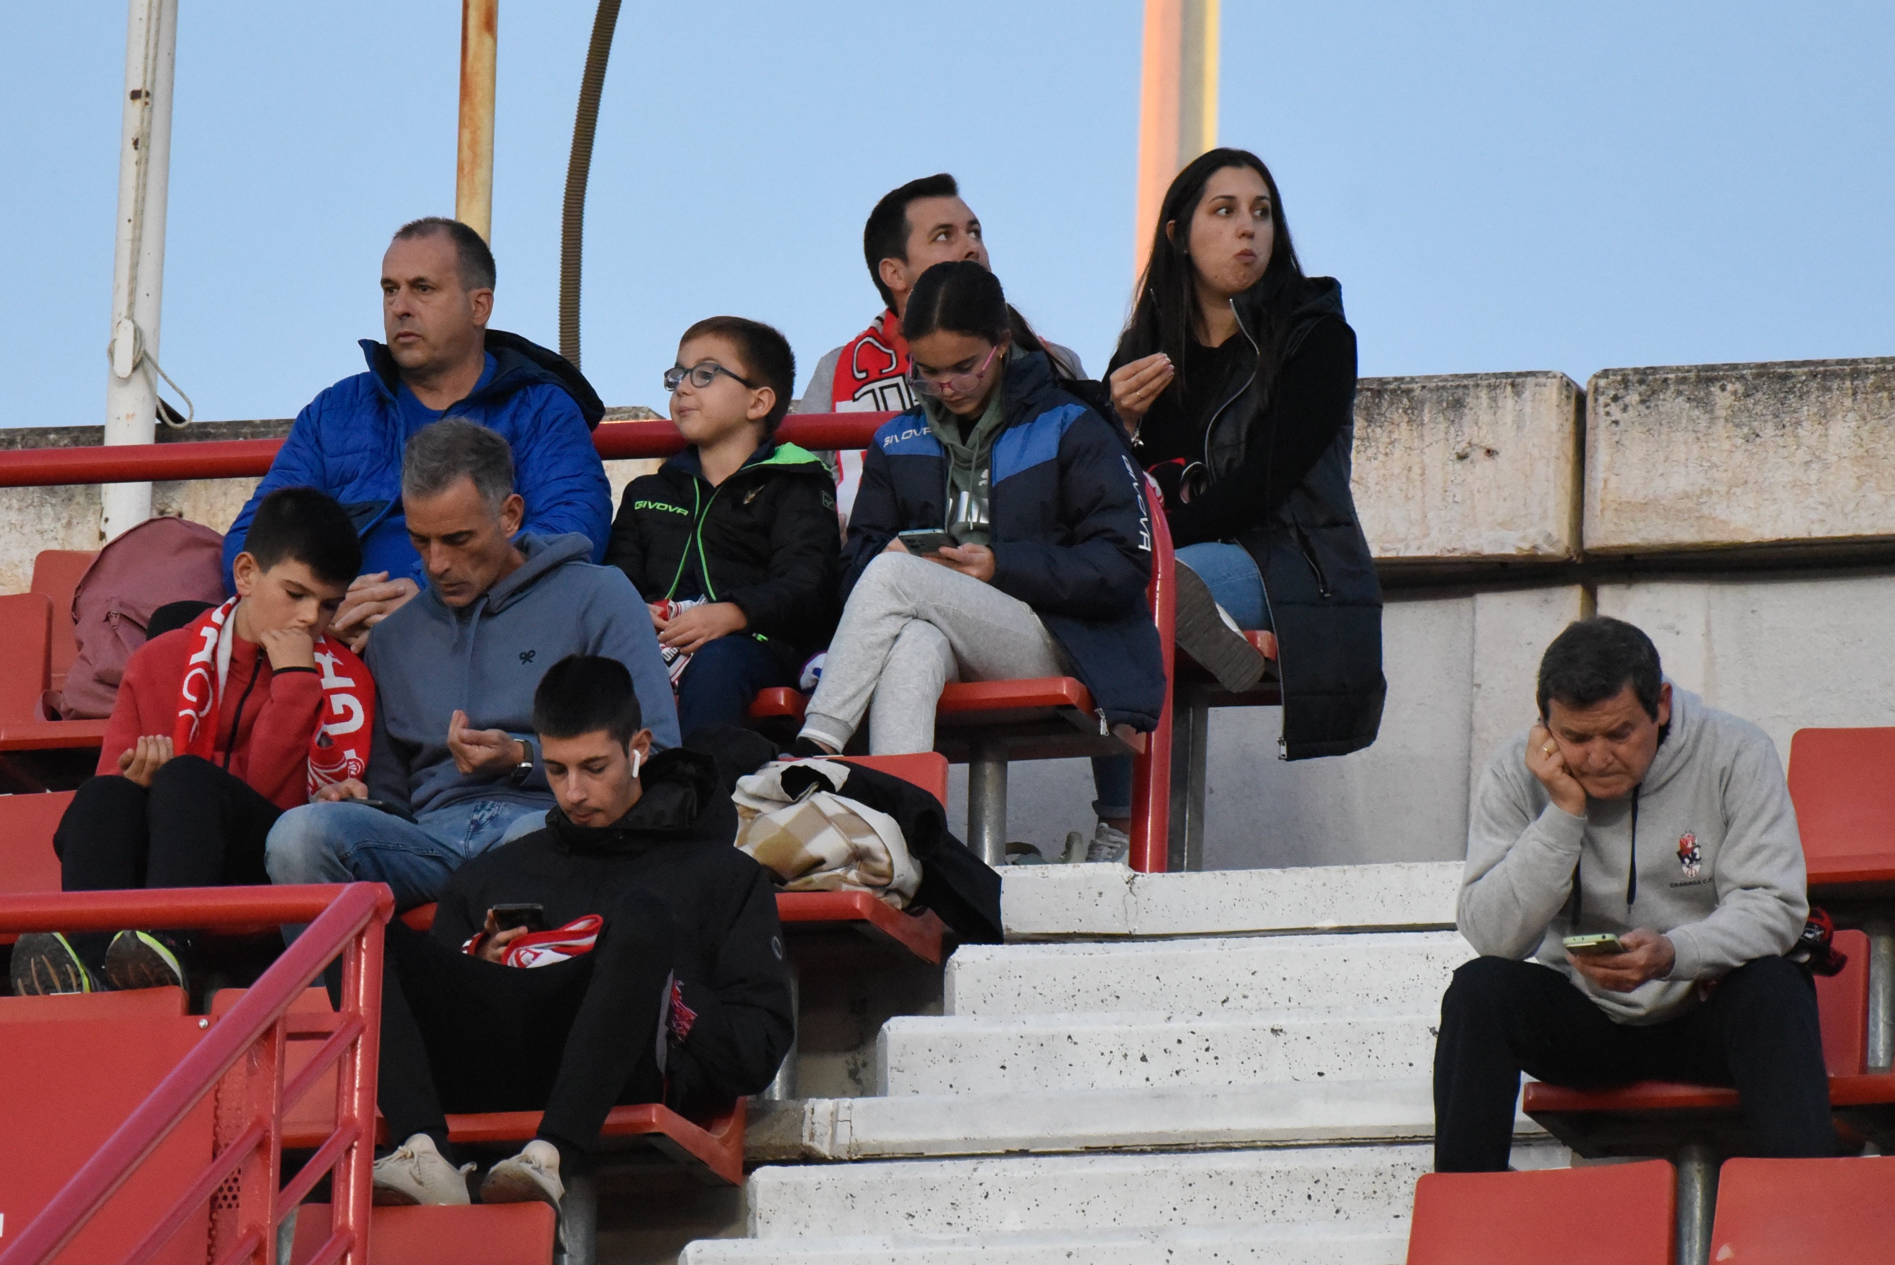
[[[1831,1155],[1808,916],[1776,747],[1664,681],[1615,618],[1541,660],[1541,723],[1480,779],[1435,1045],[1435,1168],[1505,1170],[1520,1073],[1734,1085],[1759,1155]],[[1567,952],[1613,933],[1620,952]],[[1535,962],[1529,962],[1535,958]]]

